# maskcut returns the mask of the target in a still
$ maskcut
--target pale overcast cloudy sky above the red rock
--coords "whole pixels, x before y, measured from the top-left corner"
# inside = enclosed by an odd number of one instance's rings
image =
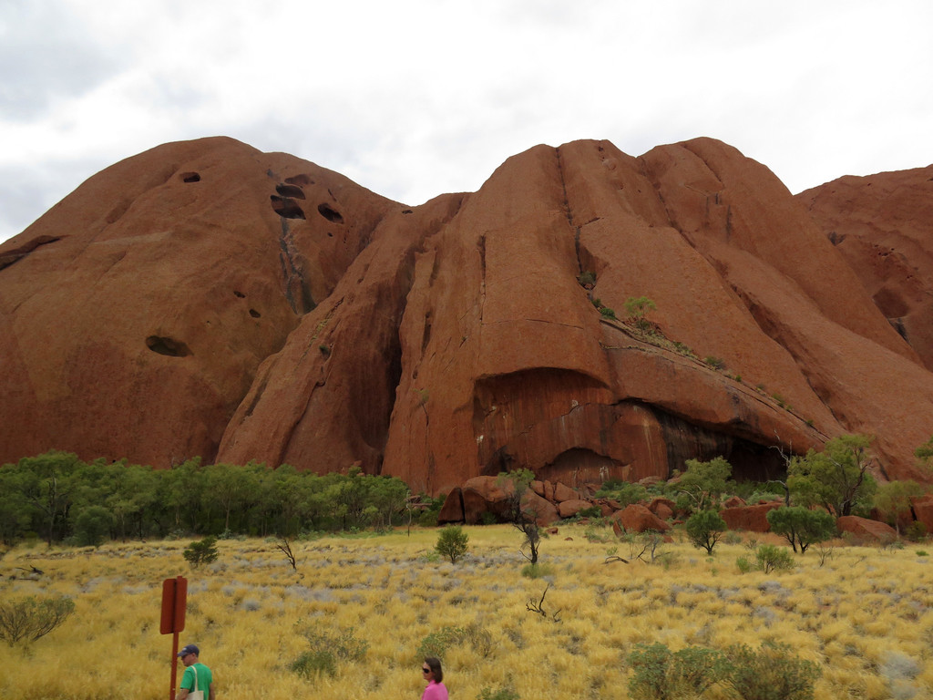
[[[536,144],[712,136],[798,192],[933,162],[929,0],[0,0],[0,241],[229,135],[399,202]]]

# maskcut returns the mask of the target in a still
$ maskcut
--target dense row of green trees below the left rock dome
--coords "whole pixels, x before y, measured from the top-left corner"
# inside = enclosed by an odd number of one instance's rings
[[[95,545],[172,534],[294,537],[388,527],[404,520],[410,495],[401,480],[356,467],[319,476],[288,465],[202,465],[194,458],[152,469],[52,451],[0,467],[0,540]]]

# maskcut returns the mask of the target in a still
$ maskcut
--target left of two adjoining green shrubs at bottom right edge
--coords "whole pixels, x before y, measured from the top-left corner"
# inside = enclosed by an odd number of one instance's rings
[[[672,653],[660,642],[636,644],[627,660],[633,670],[629,694],[636,700],[700,697],[729,671],[719,651],[686,647]]]

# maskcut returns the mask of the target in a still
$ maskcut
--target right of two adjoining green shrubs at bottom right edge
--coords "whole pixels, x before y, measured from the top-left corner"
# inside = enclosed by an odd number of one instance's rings
[[[726,650],[730,672],[726,684],[741,698],[812,700],[820,670],[791,654],[790,647],[766,641],[759,651],[745,644]]]

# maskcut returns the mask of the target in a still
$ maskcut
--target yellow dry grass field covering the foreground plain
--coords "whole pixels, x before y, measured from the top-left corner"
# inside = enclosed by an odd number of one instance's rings
[[[418,700],[422,640],[471,623],[491,633],[492,648],[444,654],[452,700],[506,687],[523,700],[627,698],[635,644],[758,648],[766,639],[820,666],[818,700],[933,697],[926,545],[839,546],[822,567],[808,552],[791,571],[742,574],[736,558],[754,560],[742,543],[720,543],[708,557],[676,541],[665,545],[667,566],[606,564],[609,547],[628,556],[628,545],[592,542],[584,525],[568,525],[542,540],[550,575],[529,579],[516,530],[465,529],[469,552],[455,565],[431,556],[438,530],[403,529],[293,542],[297,573],[274,540],[220,541],[219,559],[197,570],[182,556],[188,541],[20,546],[0,559],[0,596],[69,595],[76,610],[29,647],[0,643],[0,697],[167,698],[172,637],[159,633],[161,584],[178,575],[188,578],[180,644],[201,647],[221,700]],[[30,567],[44,575],[23,578]],[[526,609],[549,583],[548,617]],[[288,666],[308,649],[299,634],[308,624],[330,634],[352,628],[369,649],[333,678],[301,678]]]

